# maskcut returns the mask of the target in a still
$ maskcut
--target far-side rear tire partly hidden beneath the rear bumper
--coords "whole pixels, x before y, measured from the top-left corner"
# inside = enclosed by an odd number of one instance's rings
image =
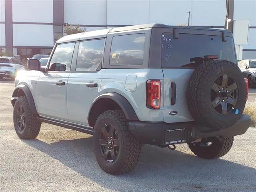
[[[198,157],[204,159],[215,159],[226,155],[231,149],[234,137],[213,138],[210,146],[201,146],[200,142],[188,144],[190,150]]]

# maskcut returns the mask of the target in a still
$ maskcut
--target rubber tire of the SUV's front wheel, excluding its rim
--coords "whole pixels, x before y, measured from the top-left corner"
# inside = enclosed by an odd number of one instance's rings
[[[26,117],[26,123],[23,130],[20,130],[17,122],[17,110],[22,106]],[[14,128],[19,138],[21,139],[33,139],[38,136],[41,128],[41,123],[37,120],[36,116],[32,113],[26,96],[20,96],[15,104],[13,110],[13,122]]]

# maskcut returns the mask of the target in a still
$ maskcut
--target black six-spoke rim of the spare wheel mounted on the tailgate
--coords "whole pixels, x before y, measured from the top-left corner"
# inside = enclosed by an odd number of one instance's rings
[[[238,86],[231,76],[219,76],[212,85],[211,102],[218,114],[230,114],[236,107]]]

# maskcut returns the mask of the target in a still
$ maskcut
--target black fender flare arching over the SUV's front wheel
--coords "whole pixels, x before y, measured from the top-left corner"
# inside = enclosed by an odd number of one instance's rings
[[[30,106],[32,113],[34,115],[38,116],[38,112],[36,111],[36,105],[35,105],[32,93],[31,93],[30,89],[28,88],[28,86],[26,86],[24,84],[20,84],[20,85],[16,86],[16,88],[14,89],[14,91],[12,93],[12,98],[11,98],[12,106],[14,107],[14,104],[15,104],[16,100],[18,99],[18,97],[23,95],[20,92],[20,90],[22,90],[24,92],[26,98],[28,99],[28,104]]]

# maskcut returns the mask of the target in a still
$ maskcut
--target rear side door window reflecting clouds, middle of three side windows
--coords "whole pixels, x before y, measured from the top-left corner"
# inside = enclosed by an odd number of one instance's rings
[[[105,39],[79,43],[76,71],[96,71],[102,63]]]

